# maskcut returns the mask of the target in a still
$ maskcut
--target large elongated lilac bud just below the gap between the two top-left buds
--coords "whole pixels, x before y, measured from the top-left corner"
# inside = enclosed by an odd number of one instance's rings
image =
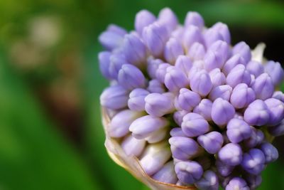
[[[151,54],[159,58],[163,55],[165,43],[168,41],[168,30],[164,25],[152,23],[143,29],[143,40]]]

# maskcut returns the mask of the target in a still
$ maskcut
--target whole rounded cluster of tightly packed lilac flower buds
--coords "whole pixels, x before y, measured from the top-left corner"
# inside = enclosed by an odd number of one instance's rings
[[[284,134],[280,63],[264,60],[261,47],[231,46],[224,23],[206,28],[188,12],[181,26],[168,8],[157,18],[138,12],[130,33],[110,25],[99,41],[107,136],[147,176],[212,190],[261,184],[278,158],[271,138]]]

